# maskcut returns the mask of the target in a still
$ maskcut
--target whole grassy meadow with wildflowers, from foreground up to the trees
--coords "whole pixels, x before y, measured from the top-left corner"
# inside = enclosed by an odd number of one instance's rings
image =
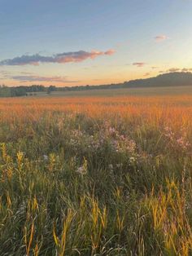
[[[0,255],[192,255],[191,87],[146,90],[0,99]]]

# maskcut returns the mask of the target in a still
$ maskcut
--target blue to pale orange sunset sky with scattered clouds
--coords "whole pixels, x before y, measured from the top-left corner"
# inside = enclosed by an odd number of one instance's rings
[[[192,71],[192,0],[0,0],[0,85]]]

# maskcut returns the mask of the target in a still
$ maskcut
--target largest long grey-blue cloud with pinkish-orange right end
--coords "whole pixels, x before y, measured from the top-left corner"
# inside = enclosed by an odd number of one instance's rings
[[[43,55],[22,55],[20,57],[15,57],[13,59],[7,59],[0,61],[0,65],[10,65],[10,66],[19,66],[19,65],[38,65],[41,63],[58,63],[64,64],[68,62],[81,62],[87,59],[94,60],[101,55],[113,55],[115,50],[109,49],[107,51],[71,51],[63,52],[52,56],[43,56]]]

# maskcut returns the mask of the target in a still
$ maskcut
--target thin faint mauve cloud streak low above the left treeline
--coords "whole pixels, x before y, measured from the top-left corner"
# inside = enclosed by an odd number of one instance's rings
[[[40,76],[11,76],[9,77],[19,82],[81,82],[68,80],[68,77],[40,77]]]

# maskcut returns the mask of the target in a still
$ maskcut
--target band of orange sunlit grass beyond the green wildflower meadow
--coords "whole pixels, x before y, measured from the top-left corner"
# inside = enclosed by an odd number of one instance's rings
[[[15,98],[0,100],[0,120],[37,120],[43,113],[85,113],[89,117],[141,117],[190,125],[192,95],[156,97]]]

